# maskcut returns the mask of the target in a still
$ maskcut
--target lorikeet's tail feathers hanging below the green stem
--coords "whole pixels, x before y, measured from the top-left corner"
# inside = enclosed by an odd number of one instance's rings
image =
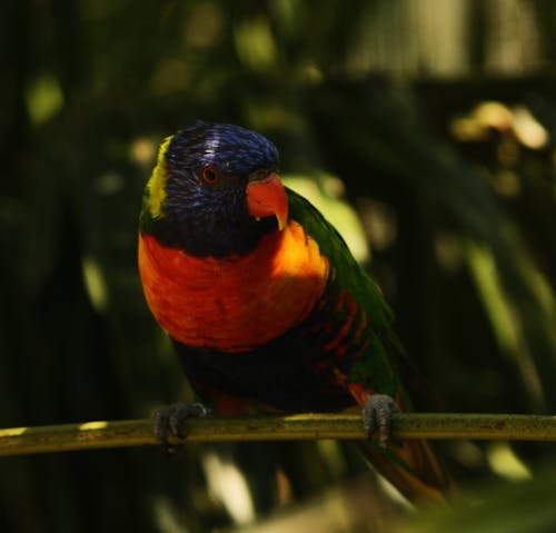
[[[426,441],[391,443],[385,450],[377,442],[360,442],[365,457],[414,504],[447,504],[454,483],[446,467]]]

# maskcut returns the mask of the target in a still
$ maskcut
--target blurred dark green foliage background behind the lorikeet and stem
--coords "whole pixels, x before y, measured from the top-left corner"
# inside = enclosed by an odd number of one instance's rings
[[[549,0],[1,2],[0,427],[190,394],[136,234],[158,142],[199,118],[277,144],[425,408],[555,412],[555,27]],[[554,531],[554,445],[440,448],[474,505],[409,519],[331,442],[3,457],[0,531]]]

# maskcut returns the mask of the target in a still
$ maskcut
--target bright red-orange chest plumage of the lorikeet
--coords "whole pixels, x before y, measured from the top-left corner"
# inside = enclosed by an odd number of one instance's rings
[[[173,339],[251,349],[299,324],[325,290],[328,261],[296,221],[241,257],[193,257],[139,236],[147,303]]]

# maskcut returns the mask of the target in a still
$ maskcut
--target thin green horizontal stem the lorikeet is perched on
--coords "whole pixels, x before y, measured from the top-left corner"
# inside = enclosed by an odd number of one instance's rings
[[[183,442],[365,438],[356,414],[304,414],[196,418]],[[556,416],[410,413],[394,416],[398,438],[468,438],[556,442]],[[179,441],[172,440],[172,443]],[[0,430],[0,455],[157,444],[150,420],[86,422]]]

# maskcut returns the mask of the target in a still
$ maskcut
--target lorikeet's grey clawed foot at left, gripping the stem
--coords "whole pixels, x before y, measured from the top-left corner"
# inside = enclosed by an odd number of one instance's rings
[[[187,436],[186,422],[189,418],[198,418],[210,414],[210,409],[202,404],[176,403],[165,405],[155,413],[153,431],[155,437],[160,441],[168,455],[177,455],[182,445],[170,444],[168,438],[173,435],[178,438]]]

